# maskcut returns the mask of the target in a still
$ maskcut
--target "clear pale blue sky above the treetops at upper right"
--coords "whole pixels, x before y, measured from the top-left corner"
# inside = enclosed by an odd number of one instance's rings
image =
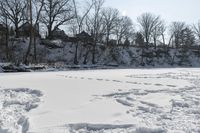
[[[134,22],[144,12],[161,15],[166,22],[200,20],[200,0],[106,0],[105,6],[119,9]]]

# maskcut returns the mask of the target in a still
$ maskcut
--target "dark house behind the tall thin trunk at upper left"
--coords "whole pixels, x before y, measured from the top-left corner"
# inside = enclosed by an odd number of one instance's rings
[[[29,37],[30,36],[30,27],[31,27],[31,24],[29,22],[22,24],[18,30],[19,37]],[[33,28],[33,33],[37,37],[40,37],[39,24],[37,24],[35,27],[32,27],[32,28]]]

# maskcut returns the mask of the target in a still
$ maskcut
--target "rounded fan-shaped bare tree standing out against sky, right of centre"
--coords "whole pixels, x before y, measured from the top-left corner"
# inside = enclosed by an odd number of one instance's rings
[[[152,32],[155,30],[157,25],[160,24],[160,16],[155,16],[151,13],[144,13],[137,18],[137,21],[140,24],[141,33],[143,34],[148,46]]]

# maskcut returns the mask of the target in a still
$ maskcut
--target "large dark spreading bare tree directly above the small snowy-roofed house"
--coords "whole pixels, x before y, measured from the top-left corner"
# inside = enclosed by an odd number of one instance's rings
[[[53,30],[66,24],[75,17],[70,0],[45,0],[42,21],[48,30],[48,37],[52,37]]]

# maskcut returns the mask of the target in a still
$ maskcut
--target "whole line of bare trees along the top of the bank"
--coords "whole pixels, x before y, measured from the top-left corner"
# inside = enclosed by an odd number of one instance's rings
[[[5,28],[5,51],[9,56],[9,40],[19,38],[19,28],[28,22],[29,46],[24,58],[28,62],[31,49],[37,60],[39,25],[45,38],[53,38],[53,31],[63,26],[67,33],[76,35],[86,31],[92,37],[92,62],[95,64],[96,46],[138,46],[186,48],[198,45],[200,21],[193,25],[185,22],[167,24],[159,15],[143,13],[133,24],[118,9],[105,7],[104,0],[0,0],[0,23]],[[136,28],[137,26],[137,28]],[[43,28],[41,28],[43,27]],[[78,47],[78,45],[77,45]]]

